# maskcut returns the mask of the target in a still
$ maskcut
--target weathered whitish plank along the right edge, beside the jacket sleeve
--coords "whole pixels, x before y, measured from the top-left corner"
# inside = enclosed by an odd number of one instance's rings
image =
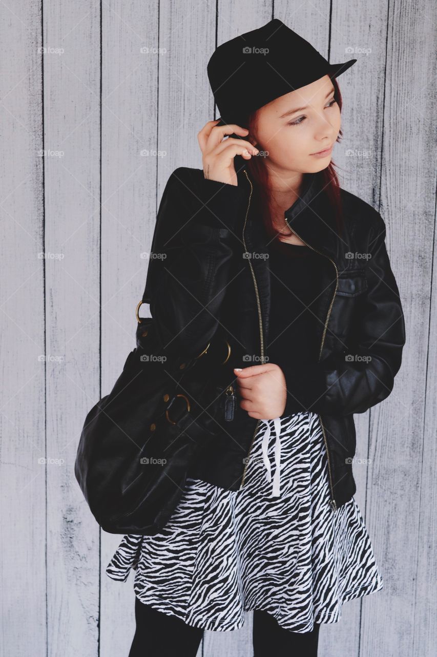
[[[374,606],[369,604],[371,613],[363,619],[362,641],[369,655],[435,653],[436,618],[427,601],[433,591],[435,608],[436,553],[432,555],[432,545],[424,541],[430,538],[428,526],[435,527],[430,501],[436,497],[436,380],[427,362],[431,346],[435,348],[435,338],[434,345],[429,342],[430,317],[435,319],[435,306],[430,308],[437,164],[430,71],[435,64],[435,5],[423,0],[390,3],[381,117],[381,214],[404,302],[407,345],[392,395],[371,412],[371,432],[377,439],[367,505],[369,524],[382,549],[386,592]],[[427,455],[434,455],[434,469],[424,472]],[[378,634],[375,622],[383,630]]]

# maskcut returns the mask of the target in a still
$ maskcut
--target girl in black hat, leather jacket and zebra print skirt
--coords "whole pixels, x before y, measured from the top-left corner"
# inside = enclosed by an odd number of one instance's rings
[[[244,59],[255,47],[268,60]],[[226,328],[238,403],[164,530],[126,535],[108,564],[121,581],[136,570],[129,657],[194,656],[204,629],[238,629],[247,610],[256,657],[316,655],[320,624],[383,588],[352,414],[390,394],[405,334],[383,219],[331,161],[335,78],[354,61],[328,64],[278,20],[210,60],[222,117],[198,133],[203,169],[167,183],[154,243],[170,259],[146,289],[163,343],[198,353]]]

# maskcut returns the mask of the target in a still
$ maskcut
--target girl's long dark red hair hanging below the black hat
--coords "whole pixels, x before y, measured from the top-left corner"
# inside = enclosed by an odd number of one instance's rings
[[[335,78],[331,78],[333,87],[335,89],[334,98],[337,101],[340,111],[342,106],[341,93],[339,85]],[[247,122],[243,125],[247,126],[249,130],[249,135],[255,134],[257,121],[258,121],[258,112],[252,112],[247,117]],[[340,141],[343,137],[343,132],[339,131],[339,137],[337,141]],[[264,223],[267,235],[270,236],[272,241],[279,242],[278,231],[274,229],[272,221],[272,212],[270,209],[270,185],[268,180],[268,170],[265,164],[264,158],[258,156],[252,156],[250,160],[246,160],[246,168],[251,177],[252,181],[255,181],[257,184],[257,193],[259,195],[259,212]],[[341,196],[340,196],[340,185],[337,173],[335,171],[335,164],[331,160],[329,166],[320,171],[320,179],[322,183],[322,189],[327,195],[329,202],[334,210],[335,219],[337,222],[337,229],[339,234],[343,229],[343,212],[341,207]]]

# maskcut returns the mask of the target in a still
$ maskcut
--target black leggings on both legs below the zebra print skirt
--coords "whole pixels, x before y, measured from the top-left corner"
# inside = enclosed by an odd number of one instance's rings
[[[135,597],[136,630],[129,657],[196,657],[203,637],[201,627],[188,625]],[[254,657],[316,657],[319,623],[312,632],[284,629],[267,612],[253,612]]]

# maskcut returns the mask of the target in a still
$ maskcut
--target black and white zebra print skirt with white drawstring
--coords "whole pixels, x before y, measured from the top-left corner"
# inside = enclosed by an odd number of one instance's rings
[[[241,490],[189,478],[165,528],[125,535],[106,574],[133,568],[136,597],[189,625],[239,629],[260,609],[308,632],[383,588],[355,499],[336,511],[329,500],[318,415],[261,420]]]

